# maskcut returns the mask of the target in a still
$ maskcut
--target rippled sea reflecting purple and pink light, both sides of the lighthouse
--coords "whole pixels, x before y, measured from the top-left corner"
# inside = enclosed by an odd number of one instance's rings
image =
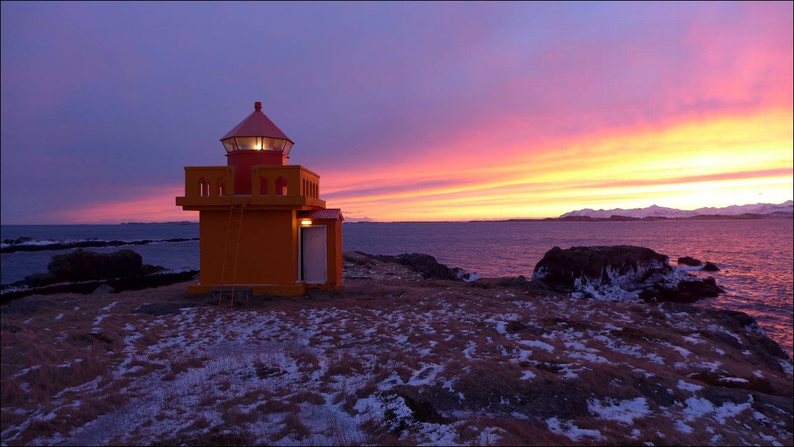
[[[700,301],[719,309],[740,310],[757,319],[767,335],[792,354],[792,284],[794,234],[792,219],[708,220],[657,222],[355,222],[343,226],[345,251],[372,254],[426,253],[449,267],[480,276],[526,276],[555,246],[638,245],[669,256],[711,261],[713,276],[726,290],[715,299]],[[121,225],[0,225],[0,240],[29,237],[26,244],[67,241],[142,241],[148,245],[89,248],[114,252],[129,248],[146,264],[175,271],[198,269],[198,224],[130,223]],[[6,247],[6,243],[2,244]],[[46,272],[53,255],[67,250],[4,252],[0,255],[0,283]]]

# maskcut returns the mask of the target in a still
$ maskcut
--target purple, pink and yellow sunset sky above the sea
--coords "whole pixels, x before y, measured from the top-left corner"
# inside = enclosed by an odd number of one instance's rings
[[[780,203],[792,2],[2,2],[2,224],[198,220],[255,101],[347,221]]]

